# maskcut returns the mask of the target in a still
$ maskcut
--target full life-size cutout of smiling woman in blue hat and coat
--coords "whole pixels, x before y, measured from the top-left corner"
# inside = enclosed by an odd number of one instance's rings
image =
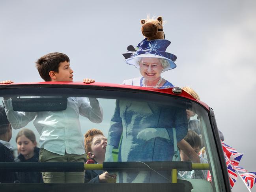
[[[125,84],[153,88],[173,86],[161,78],[162,71],[176,67],[176,56],[166,53],[170,41],[159,39],[142,41],[136,52],[128,53],[126,62],[140,68],[142,78],[126,80]],[[148,57],[150,56],[150,57]],[[162,64],[164,63],[164,65]],[[130,82],[129,82],[130,81]],[[117,100],[108,131],[105,161],[113,161],[112,149],[118,149],[118,161],[172,161],[174,132],[177,142],[187,134],[186,109],[166,107],[154,102]],[[170,172],[119,172],[117,183],[168,183]]]

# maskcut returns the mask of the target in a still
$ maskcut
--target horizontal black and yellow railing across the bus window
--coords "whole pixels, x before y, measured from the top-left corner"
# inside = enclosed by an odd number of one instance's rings
[[[9,171],[171,171],[209,170],[207,163],[155,161],[155,162],[103,162],[103,164],[84,164],[82,162],[0,162],[0,170]]]

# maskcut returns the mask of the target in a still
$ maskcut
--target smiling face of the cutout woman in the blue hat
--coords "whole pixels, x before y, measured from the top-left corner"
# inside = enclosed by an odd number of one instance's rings
[[[158,58],[145,57],[139,61],[140,74],[148,81],[158,80],[163,66]]]

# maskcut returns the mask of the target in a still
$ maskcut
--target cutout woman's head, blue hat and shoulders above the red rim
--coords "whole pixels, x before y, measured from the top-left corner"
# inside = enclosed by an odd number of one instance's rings
[[[148,41],[144,39],[138,44],[138,50],[123,53],[125,62],[140,70],[142,77],[124,80],[123,84],[133,86],[147,86],[152,88],[170,88],[174,85],[161,77],[164,71],[174,69],[177,57],[165,52],[170,45],[166,39]]]

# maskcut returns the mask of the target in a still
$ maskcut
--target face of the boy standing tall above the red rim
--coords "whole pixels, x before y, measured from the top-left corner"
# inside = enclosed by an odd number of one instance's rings
[[[69,66],[69,62],[61,62],[59,73],[55,72],[56,78],[52,81],[73,81],[73,70]]]

